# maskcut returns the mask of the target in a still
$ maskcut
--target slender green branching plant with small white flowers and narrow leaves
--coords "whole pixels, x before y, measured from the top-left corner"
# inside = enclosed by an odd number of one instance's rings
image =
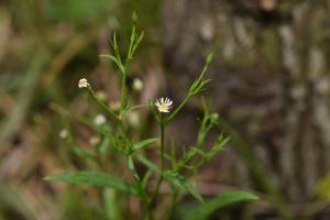
[[[106,120],[101,121],[105,128],[101,130],[94,128],[95,132],[98,133],[98,136],[100,136],[99,142],[95,146],[91,146],[94,152],[75,152],[77,153],[77,156],[82,157],[82,160],[91,160],[95,164],[97,164],[98,172],[79,170],[61,173],[53,176],[47,176],[45,177],[45,180],[62,180],[70,184],[98,186],[103,188],[103,194],[107,193],[108,188],[111,188],[113,189],[112,193],[116,195],[114,197],[118,199],[123,197],[123,193],[134,196],[140,200],[138,205],[141,209],[141,219],[163,219],[164,217],[161,218],[157,210],[162,207],[164,211],[163,204],[166,204],[167,197],[170,197],[172,202],[169,207],[165,208],[168,209],[165,211],[165,213],[167,213],[167,218],[173,218],[175,216],[175,207],[180,202],[180,199],[183,199],[185,193],[189,193],[200,202],[204,202],[202,196],[196,188],[196,186],[198,186],[198,168],[206,162],[210,161],[217,153],[219,153],[224,147],[229,139],[220,134],[212,144],[211,148],[206,150],[206,138],[210,130],[219,123],[219,117],[217,113],[210,112],[209,106],[205,100],[202,100],[205,116],[200,123],[200,130],[196,145],[190,146],[179,157],[177,156],[177,152],[180,146],[174,144],[172,145],[170,153],[168,152],[169,147],[166,147],[168,143],[166,142],[168,139],[166,138],[166,128],[180,112],[190,98],[206,89],[207,84],[210,81],[210,79],[206,78],[206,73],[207,67],[211,64],[212,55],[210,54],[207,57],[206,65],[199,77],[191,84],[183,102],[174,108],[174,110],[172,110],[173,101],[168,98],[160,98],[155,103],[150,100],[148,105],[135,105],[131,94],[128,92],[127,85],[133,55],[144,36],[143,32],[138,33],[136,31],[136,15],[133,14],[133,26],[130,44],[124,58],[122,57],[123,50],[121,50],[118,44],[117,33],[113,34],[111,40],[113,55],[101,55],[101,57],[111,59],[119,69],[121,80],[119,108],[111,109],[107,102],[102,100],[102,97],[97,95],[91,86],[91,82],[89,82],[86,78],[80,79],[78,84],[78,87],[86,89],[91,98],[103,109],[106,113],[109,114],[109,122],[106,122]],[[148,85],[145,85],[145,87],[147,86]],[[134,131],[134,129],[130,127],[128,123],[129,117],[133,110],[139,110],[147,106],[150,107],[154,119],[160,125],[161,134],[157,139],[152,138],[139,140],[136,142],[133,136],[136,136],[134,133],[139,134],[140,132]],[[153,145],[154,151],[157,151],[157,145],[155,145],[155,143],[158,141],[160,162],[157,164],[148,158],[147,151],[145,151],[145,148],[148,145]],[[69,143],[72,144],[70,147],[75,147],[77,145],[77,143],[74,141]],[[116,155],[118,157],[117,163],[114,163],[114,161],[111,163],[110,155],[113,153],[118,154]],[[111,165],[116,167],[111,170],[114,174],[128,174],[125,170],[128,169],[129,174],[127,178],[124,178],[124,176],[114,176],[109,174],[110,170],[108,170],[107,166],[103,165],[105,162],[110,162]],[[141,169],[141,165],[144,166],[143,172],[136,168],[139,166]],[[195,184],[190,183],[190,177],[196,179]],[[157,179],[156,183],[155,179]],[[162,193],[162,189],[164,188],[163,186],[170,188],[169,193],[166,193],[167,195]],[[249,193],[233,191],[232,194],[220,196],[217,198],[217,200],[200,205],[193,213],[195,213],[197,217],[200,217],[198,219],[205,219],[212,211],[217,210],[217,208],[221,208],[234,201],[254,200],[257,197]],[[121,208],[119,205],[116,207],[119,207],[120,210],[128,209],[125,205],[129,204],[129,199],[130,197],[122,199],[124,206],[123,208]],[[114,200],[111,199],[110,201],[113,202]],[[107,204],[110,201],[105,199],[103,202],[106,208],[111,208],[112,205]],[[130,211],[130,209],[128,210]],[[110,211],[110,213],[111,212],[113,212],[113,210]],[[124,215],[120,213],[119,210],[116,210],[114,212],[118,213],[117,218],[124,219]],[[105,213],[107,213],[106,210]],[[109,219],[111,219],[110,216]],[[187,219],[191,218],[187,217]]]

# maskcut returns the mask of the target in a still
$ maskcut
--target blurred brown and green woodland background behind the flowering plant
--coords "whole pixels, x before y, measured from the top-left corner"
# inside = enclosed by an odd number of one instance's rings
[[[201,191],[262,198],[221,219],[330,219],[329,0],[0,1],[0,219],[106,218],[95,191],[42,177],[88,167],[63,141],[95,141],[68,116],[100,112],[77,81],[116,105],[116,68],[98,55],[114,31],[127,45],[134,11],[145,31],[129,80],[143,82],[139,102],[178,103],[215,55],[205,97],[231,143],[202,168]],[[170,133],[188,145],[201,114],[193,100]],[[147,112],[132,118],[141,131],[151,123]]]

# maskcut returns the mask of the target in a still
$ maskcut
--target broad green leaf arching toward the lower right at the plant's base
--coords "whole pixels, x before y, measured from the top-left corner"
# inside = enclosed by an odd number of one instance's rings
[[[257,200],[258,197],[242,190],[233,190],[219,195],[217,198],[208,200],[196,208],[191,209],[186,216],[185,220],[204,220],[207,219],[216,210],[226,206],[240,202]]]

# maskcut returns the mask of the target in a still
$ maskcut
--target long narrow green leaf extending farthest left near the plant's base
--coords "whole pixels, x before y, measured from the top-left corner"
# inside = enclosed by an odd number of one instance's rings
[[[130,187],[121,178],[110,174],[99,172],[68,172],[46,176],[44,180],[48,182],[65,182],[69,184],[86,184],[105,188],[113,188],[119,191],[136,195],[133,187]]]

